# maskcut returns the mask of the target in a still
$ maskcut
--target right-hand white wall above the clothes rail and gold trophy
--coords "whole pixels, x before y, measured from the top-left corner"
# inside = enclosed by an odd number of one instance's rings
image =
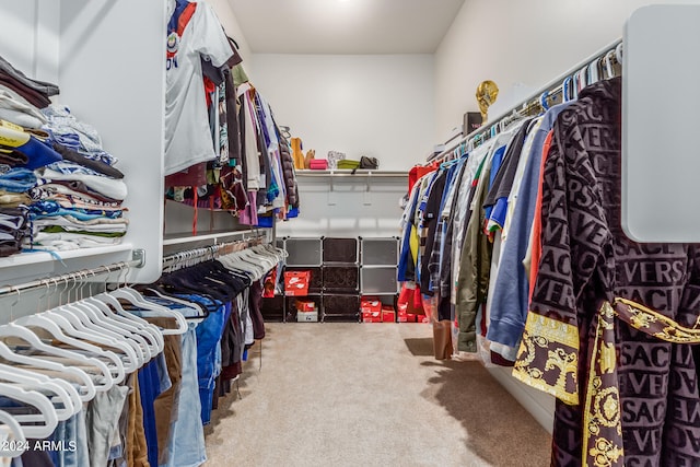
[[[503,98],[516,83],[537,91],[622,37],[630,13],[651,3],[698,2],[467,0],[435,52],[434,141],[444,141],[465,112],[478,112],[481,81],[495,81]]]

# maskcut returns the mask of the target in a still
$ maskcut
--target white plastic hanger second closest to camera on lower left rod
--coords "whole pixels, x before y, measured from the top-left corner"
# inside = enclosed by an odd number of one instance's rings
[[[35,407],[37,415],[13,415],[12,418],[20,424],[24,436],[43,440],[54,433],[58,425],[58,417],[54,405],[42,393],[23,389],[13,384],[0,383],[0,396],[24,402]],[[25,424],[28,423],[28,424]],[[42,424],[36,424],[42,423]]]

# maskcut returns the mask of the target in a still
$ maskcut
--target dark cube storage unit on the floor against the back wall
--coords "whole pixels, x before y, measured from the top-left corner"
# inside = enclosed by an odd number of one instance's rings
[[[319,322],[360,322],[360,297],[396,297],[398,237],[285,237],[285,270],[311,271],[308,294],[266,299],[264,317],[296,322],[296,301],[313,301]],[[281,245],[280,245],[281,244]],[[395,300],[393,300],[395,302]]]

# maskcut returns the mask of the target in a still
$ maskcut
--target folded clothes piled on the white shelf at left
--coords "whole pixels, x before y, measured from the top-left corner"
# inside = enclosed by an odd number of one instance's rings
[[[121,242],[127,196],[91,126],[0,57],[0,256]]]

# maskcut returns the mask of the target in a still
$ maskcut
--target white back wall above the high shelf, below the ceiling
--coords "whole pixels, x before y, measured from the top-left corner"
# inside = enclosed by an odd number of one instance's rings
[[[407,171],[433,144],[431,55],[256,54],[253,73],[278,124],[317,157],[337,150]]]

